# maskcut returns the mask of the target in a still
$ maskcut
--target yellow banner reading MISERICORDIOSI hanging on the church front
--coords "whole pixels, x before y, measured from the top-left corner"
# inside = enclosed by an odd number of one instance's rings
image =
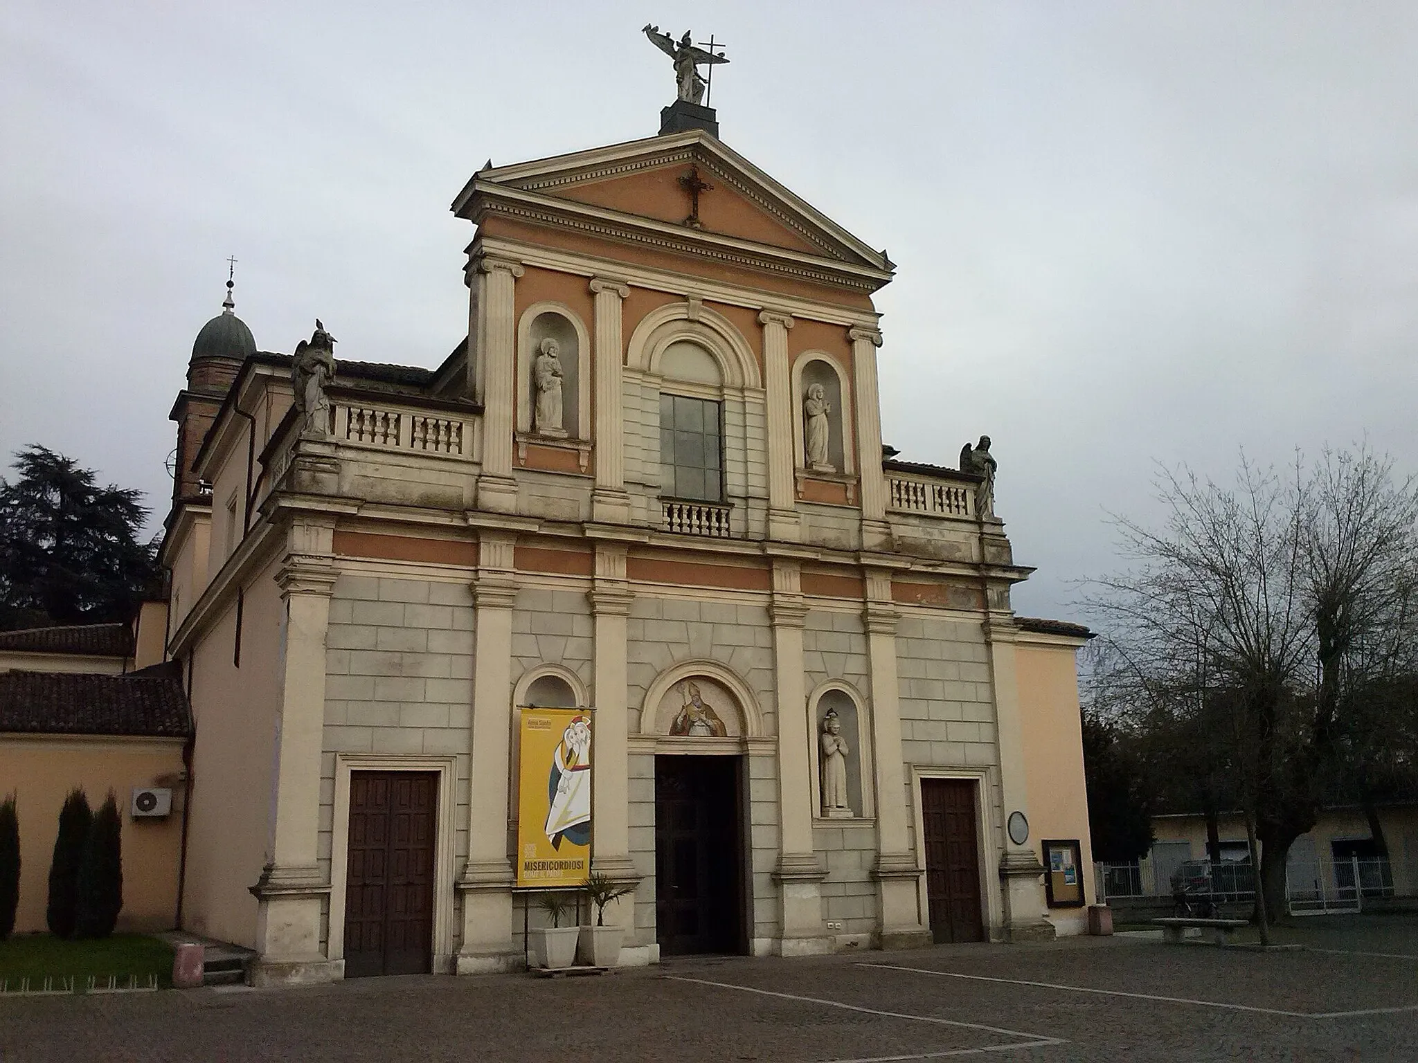
[[[523,709],[518,886],[576,889],[591,870],[591,714]]]

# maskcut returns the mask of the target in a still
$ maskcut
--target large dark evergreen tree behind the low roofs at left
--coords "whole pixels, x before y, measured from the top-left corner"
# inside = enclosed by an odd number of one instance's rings
[[[14,468],[0,479],[0,631],[128,621],[160,577],[156,546],[138,541],[140,493],[45,446]]]

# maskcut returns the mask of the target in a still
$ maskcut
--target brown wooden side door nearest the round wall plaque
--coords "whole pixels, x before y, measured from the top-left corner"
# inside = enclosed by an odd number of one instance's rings
[[[984,941],[976,784],[968,780],[922,780],[920,818],[926,835],[930,935],[937,943]]]

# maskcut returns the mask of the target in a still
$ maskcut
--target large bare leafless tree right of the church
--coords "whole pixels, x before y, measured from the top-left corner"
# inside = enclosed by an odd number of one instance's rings
[[[1185,753],[1241,805],[1263,927],[1341,754],[1368,777],[1363,692],[1412,675],[1418,490],[1367,448],[1283,478],[1242,458],[1232,489],[1163,471],[1157,488],[1163,527],[1116,519],[1133,564],[1089,604],[1124,662],[1113,700],[1201,741]]]

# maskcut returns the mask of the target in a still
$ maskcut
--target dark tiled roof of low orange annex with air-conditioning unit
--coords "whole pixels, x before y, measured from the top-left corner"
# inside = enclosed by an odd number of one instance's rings
[[[0,673],[0,733],[184,738],[191,713],[174,669],[122,676],[81,672]]]

